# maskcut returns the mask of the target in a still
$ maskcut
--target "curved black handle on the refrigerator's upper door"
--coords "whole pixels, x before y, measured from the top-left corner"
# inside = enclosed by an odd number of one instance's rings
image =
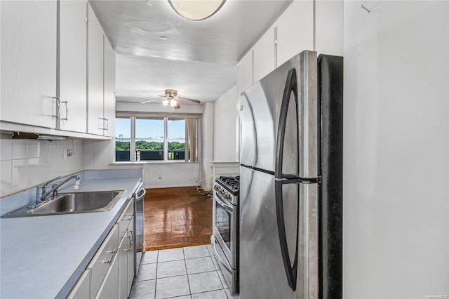
[[[274,177],[282,178],[282,164],[283,164],[283,145],[286,135],[286,125],[287,125],[287,112],[288,103],[290,102],[290,94],[295,95],[295,104],[297,102],[297,79],[296,79],[296,69],[290,69],[287,74],[286,87],[283,90],[281,112],[279,112],[279,126],[276,140],[276,160],[274,162]],[[297,111],[297,109],[296,109]],[[298,138],[297,138],[298,139]]]

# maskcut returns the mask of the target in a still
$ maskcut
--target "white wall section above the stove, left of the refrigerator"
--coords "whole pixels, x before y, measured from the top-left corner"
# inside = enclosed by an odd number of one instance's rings
[[[237,110],[237,87],[234,86],[213,105],[213,161],[237,161],[237,130],[239,114]]]

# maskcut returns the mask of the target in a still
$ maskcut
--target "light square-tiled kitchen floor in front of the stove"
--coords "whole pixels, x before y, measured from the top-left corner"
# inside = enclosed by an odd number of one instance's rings
[[[238,299],[231,295],[211,245],[147,251],[130,299]]]

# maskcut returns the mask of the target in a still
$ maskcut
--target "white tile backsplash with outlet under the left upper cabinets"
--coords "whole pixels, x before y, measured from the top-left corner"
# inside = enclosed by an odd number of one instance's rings
[[[64,149],[74,150],[63,159]],[[0,196],[83,170],[83,140],[13,140],[0,135]]]

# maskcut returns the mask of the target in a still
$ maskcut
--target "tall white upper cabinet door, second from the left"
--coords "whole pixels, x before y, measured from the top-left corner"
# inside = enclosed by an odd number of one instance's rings
[[[82,133],[87,126],[86,20],[85,1],[60,1],[59,128]]]

